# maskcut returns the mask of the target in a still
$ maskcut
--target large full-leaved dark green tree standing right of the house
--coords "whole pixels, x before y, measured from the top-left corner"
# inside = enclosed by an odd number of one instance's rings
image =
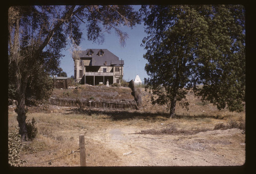
[[[143,6],[147,37],[146,88],[152,102],[188,107],[194,89],[218,109],[241,111],[245,101],[245,27],[242,6]],[[199,89],[198,84],[203,88]]]

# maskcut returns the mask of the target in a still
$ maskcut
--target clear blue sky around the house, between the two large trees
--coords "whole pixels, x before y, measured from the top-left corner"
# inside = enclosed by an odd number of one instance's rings
[[[139,8],[140,6],[135,6],[136,10]],[[119,38],[114,31],[111,31],[111,34],[105,33],[105,41],[103,44],[97,44],[92,41],[88,41],[86,28],[83,27],[82,29],[84,31],[82,36],[83,40],[79,45],[82,50],[86,50],[88,48],[108,49],[119,57],[119,60],[124,60],[123,79],[126,81],[135,79],[137,74],[142,82],[144,82],[144,78],[148,78],[144,70],[147,61],[143,58],[143,54],[146,53],[146,50],[140,46],[142,39],[146,36],[143,23],[136,25],[133,29],[125,26],[119,28],[129,35],[124,47],[120,45]],[[62,54],[65,55],[65,57],[61,59],[60,67],[63,71],[67,72],[68,77],[70,77],[74,75],[74,61],[69,50],[63,51]]]

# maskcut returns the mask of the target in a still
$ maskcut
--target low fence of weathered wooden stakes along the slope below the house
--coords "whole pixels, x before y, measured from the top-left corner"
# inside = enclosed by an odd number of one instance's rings
[[[88,108],[111,108],[111,109],[136,109],[135,102],[108,102],[108,101],[91,101],[91,100],[72,100],[69,98],[49,98],[49,103],[58,106],[77,107],[81,105]]]

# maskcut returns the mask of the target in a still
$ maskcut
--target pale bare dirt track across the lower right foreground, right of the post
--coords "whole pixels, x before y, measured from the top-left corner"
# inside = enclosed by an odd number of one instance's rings
[[[108,128],[90,134],[90,138],[110,148],[121,158],[121,166],[227,166],[245,162],[244,135],[239,129],[195,135],[132,134],[139,131],[134,127]]]

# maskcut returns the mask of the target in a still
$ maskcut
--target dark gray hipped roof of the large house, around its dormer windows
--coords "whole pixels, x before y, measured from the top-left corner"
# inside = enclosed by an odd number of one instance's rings
[[[90,50],[93,52],[92,56],[88,55]],[[98,55],[99,51],[103,52],[103,56]],[[78,57],[79,59],[92,59],[92,66],[113,66],[124,64],[123,60],[119,60],[119,58],[108,49],[86,49],[86,51],[75,51],[73,52],[72,57]]]

